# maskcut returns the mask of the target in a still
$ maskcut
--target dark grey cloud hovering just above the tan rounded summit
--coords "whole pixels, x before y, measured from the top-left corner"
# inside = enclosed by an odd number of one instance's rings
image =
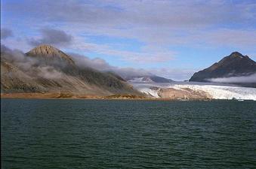
[[[28,43],[32,46],[38,46],[39,44],[52,44],[64,46],[70,44],[72,36],[66,34],[61,30],[57,29],[41,29],[42,38],[35,39],[31,38]]]

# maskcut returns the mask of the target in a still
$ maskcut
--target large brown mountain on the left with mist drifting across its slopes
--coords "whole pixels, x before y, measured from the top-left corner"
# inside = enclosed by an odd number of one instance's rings
[[[1,46],[1,92],[140,94],[113,74],[77,66],[71,56],[50,45],[35,47],[28,53]]]

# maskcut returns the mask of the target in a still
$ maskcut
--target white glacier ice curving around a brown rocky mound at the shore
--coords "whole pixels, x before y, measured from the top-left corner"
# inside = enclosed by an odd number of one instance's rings
[[[214,99],[237,99],[256,101],[256,88],[234,86],[221,83],[132,83],[135,89],[143,92],[153,98],[159,98],[158,90],[160,89],[192,89],[193,91],[204,91]]]

